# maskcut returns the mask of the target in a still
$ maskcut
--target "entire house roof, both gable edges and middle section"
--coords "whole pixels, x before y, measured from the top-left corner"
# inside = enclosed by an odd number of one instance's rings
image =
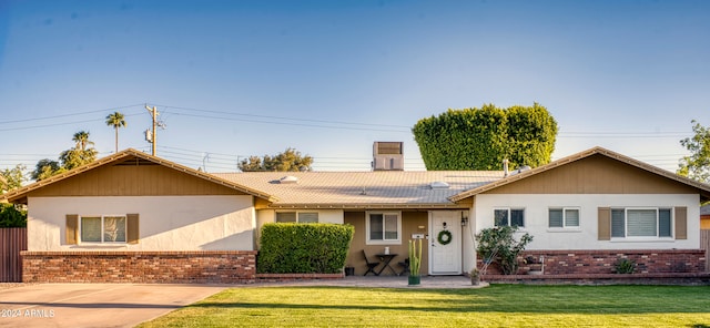
[[[504,177],[501,171],[376,171],[376,172],[200,172],[156,156],[129,148],[91,164],[30,184],[0,195],[0,201],[21,202],[33,191],[64,181],[103,165],[129,160],[148,161],[265,199],[272,208],[464,208],[460,203],[520,180],[580,161],[594,155],[629,164],[699,191],[701,199],[710,199],[710,185],[595,147],[551,162],[530,171]]]

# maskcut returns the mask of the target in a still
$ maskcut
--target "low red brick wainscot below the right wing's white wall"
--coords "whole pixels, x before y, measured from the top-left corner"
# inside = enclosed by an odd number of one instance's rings
[[[518,258],[518,275],[525,275],[530,266],[523,263],[527,256],[545,257],[545,275],[604,275],[615,274],[615,264],[620,258],[636,263],[637,274],[692,274],[706,271],[703,249],[643,249],[643,250],[526,250]],[[478,268],[483,264],[478,260]],[[499,275],[494,264],[488,275]]]

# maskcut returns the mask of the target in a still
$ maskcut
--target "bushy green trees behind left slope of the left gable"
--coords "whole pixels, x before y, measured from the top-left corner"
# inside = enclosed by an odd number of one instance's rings
[[[59,162],[49,158],[39,161],[31,173],[31,177],[36,181],[41,181],[95,161],[99,152],[92,147],[93,142],[89,140],[89,136],[90,133],[87,131],[74,133],[72,137],[75,143],[74,147],[59,154]]]

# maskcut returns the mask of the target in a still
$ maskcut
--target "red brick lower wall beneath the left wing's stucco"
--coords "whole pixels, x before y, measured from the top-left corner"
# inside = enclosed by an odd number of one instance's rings
[[[24,283],[253,284],[255,250],[22,252]]]

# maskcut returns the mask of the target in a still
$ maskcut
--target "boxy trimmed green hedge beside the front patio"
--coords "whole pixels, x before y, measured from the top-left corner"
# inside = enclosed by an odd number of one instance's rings
[[[345,266],[355,227],[341,224],[270,223],[262,227],[261,274],[337,274]]]

